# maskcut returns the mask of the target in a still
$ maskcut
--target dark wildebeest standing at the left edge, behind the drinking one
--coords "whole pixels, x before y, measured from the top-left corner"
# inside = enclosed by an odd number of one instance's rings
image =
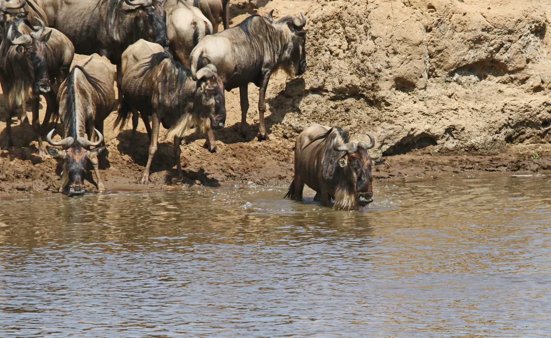
[[[39,95],[47,103],[42,129],[50,122],[52,113],[57,113],[56,93],[51,81],[57,83],[67,77],[73,60],[71,41],[55,29],[46,29],[44,23],[36,28],[24,17],[6,23],[7,34],[0,45],[0,82],[6,101],[6,139],[2,149],[12,145],[11,122],[15,110],[31,99],[33,127],[39,135],[39,156],[46,155],[39,122]],[[14,35],[17,36],[14,39]]]

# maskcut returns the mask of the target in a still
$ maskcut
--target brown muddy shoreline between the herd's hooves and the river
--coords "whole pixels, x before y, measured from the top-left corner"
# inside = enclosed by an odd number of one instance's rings
[[[271,141],[245,142],[240,138],[237,122],[216,133],[222,153],[213,154],[206,148],[205,135],[191,134],[188,144],[181,146],[183,178],[176,174],[172,143],[161,136],[154,157],[149,184],[139,184],[147,162],[148,138],[143,125],[139,129],[134,157],[126,154],[130,130],[111,130],[111,115],[106,121],[107,150],[100,156],[100,172],[107,191],[148,191],[178,187],[229,187],[258,184],[286,186],[293,179],[294,139],[272,137]],[[33,135],[32,128],[16,135]],[[251,132],[258,126],[253,125]],[[15,128],[14,128],[15,129]],[[165,131],[166,132],[166,131]],[[30,136],[32,138],[32,136]],[[25,140],[19,140],[24,142]],[[430,148],[430,147],[429,147]],[[13,146],[0,152],[0,195],[57,193],[60,187],[61,161],[37,156],[37,143]],[[551,146],[510,146],[503,154],[493,156],[433,156],[430,149],[413,150],[404,155],[374,159],[374,179],[439,178],[452,175],[480,175],[480,173],[538,173],[551,170]],[[95,176],[88,166],[87,192],[96,191]]]

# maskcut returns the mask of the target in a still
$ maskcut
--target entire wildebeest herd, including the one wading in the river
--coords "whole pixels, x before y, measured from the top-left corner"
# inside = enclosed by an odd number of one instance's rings
[[[106,148],[104,120],[112,111],[117,110],[115,126],[132,119],[131,155],[139,118],[145,123],[150,145],[141,183],[149,180],[161,123],[174,141],[181,177],[180,145],[190,128],[206,133],[206,146],[218,151],[214,130],[225,126],[224,90],[239,88],[241,134],[250,140],[247,85],[260,88],[258,140],[269,140],[264,112],[271,74],[306,71],[302,13],[274,19],[272,10],[229,28],[229,0],[0,0],[0,8],[0,81],[6,101],[2,149],[12,146],[12,117],[30,102],[39,155],[63,159],[60,191],[70,196],[85,192],[87,160],[98,190],[105,190],[98,154]],[[220,22],[224,30],[217,32]],[[89,57],[71,69],[74,53]],[[47,106],[42,124],[40,95]],[[52,140],[51,120],[61,122],[61,141]],[[52,146],[44,145],[44,136]],[[327,206],[332,199],[337,209],[370,203],[367,150],[374,139],[369,137],[369,145],[356,144],[339,127],[305,129],[296,140],[295,177],[285,196],[300,199],[307,184]]]

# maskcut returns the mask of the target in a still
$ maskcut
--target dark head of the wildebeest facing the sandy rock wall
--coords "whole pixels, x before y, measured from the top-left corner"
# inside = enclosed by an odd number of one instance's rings
[[[291,35],[292,43],[289,45],[289,57],[285,60],[283,68],[289,75],[302,75],[306,72],[306,33],[303,29],[306,25],[306,17],[300,13],[299,17],[286,15],[279,20],[272,17],[274,10],[268,13],[266,20],[270,24],[287,24]]]

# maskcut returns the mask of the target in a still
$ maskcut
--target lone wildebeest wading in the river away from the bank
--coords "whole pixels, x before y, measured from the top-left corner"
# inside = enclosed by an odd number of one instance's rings
[[[314,200],[321,200],[333,209],[355,209],[373,201],[371,157],[375,139],[368,145],[349,142],[348,133],[340,127],[320,124],[304,129],[295,143],[295,176],[285,197],[302,198],[304,184],[316,191]]]

